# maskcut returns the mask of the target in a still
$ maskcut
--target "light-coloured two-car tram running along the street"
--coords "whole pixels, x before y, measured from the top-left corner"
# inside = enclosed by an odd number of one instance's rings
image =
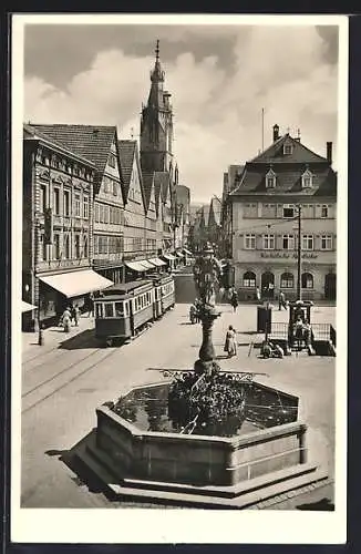
[[[174,304],[172,275],[112,285],[94,298],[95,337],[104,346],[128,341]]]

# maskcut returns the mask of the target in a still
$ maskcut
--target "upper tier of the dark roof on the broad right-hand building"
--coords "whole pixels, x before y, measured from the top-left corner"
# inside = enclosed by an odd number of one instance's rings
[[[283,154],[283,144],[292,145],[291,154]],[[313,163],[313,162],[327,162],[326,157],[319,156],[307,146],[305,146],[300,141],[292,138],[289,133],[280,136],[274,144],[271,144],[261,154],[254,157],[250,163],[254,164],[292,164],[292,163]]]

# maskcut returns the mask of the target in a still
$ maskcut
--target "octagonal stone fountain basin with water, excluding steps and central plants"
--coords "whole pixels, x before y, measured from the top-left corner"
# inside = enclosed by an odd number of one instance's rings
[[[255,381],[241,414],[195,427],[169,416],[171,382],[136,387],[96,410],[95,455],[120,481],[229,486],[306,462],[298,398]],[[171,410],[172,411],[172,410]]]

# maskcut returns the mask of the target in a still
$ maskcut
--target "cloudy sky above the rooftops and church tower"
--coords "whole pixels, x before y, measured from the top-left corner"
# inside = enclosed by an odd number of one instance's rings
[[[179,183],[220,195],[223,173],[265,147],[275,123],[337,165],[337,27],[25,27],[24,120],[140,133],[156,39],[174,107]]]

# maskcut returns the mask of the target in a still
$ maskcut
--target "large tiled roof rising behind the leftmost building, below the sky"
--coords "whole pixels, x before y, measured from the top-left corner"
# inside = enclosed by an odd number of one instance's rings
[[[101,184],[113,142],[118,153],[117,133],[114,125],[32,124],[32,126],[51,140],[63,144],[71,152],[93,162],[97,170],[94,182],[97,187]],[[118,166],[121,179],[123,179],[121,163]]]

